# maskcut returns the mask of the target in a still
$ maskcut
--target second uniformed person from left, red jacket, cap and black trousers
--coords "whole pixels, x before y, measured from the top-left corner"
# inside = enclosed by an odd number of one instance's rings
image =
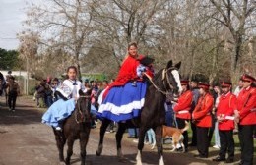
[[[197,127],[197,150],[199,154],[195,157],[208,158],[209,128],[212,126],[211,111],[214,105],[214,98],[209,93],[210,85],[199,83],[200,98],[192,113],[192,119]]]

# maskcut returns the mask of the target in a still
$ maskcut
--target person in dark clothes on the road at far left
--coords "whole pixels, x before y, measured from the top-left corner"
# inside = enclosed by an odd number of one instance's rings
[[[6,84],[7,93],[8,93],[8,106],[9,111],[15,112],[16,99],[20,94],[19,84],[15,82],[15,78],[13,76],[9,76],[9,82]]]

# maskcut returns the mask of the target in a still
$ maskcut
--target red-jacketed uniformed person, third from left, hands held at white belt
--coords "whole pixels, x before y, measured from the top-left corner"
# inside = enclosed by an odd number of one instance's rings
[[[217,106],[216,117],[219,123],[219,135],[221,140],[221,149],[219,156],[214,158],[213,161],[225,161],[226,163],[232,163],[234,158],[234,139],[233,129],[234,121],[233,114],[236,109],[236,96],[231,93],[232,83],[222,82],[222,95],[219,98],[219,104]],[[228,158],[225,159],[226,151]]]

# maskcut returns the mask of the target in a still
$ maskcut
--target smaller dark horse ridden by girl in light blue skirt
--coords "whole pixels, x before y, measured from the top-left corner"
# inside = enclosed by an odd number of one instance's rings
[[[81,165],[86,164],[86,146],[91,131],[91,97],[90,91],[84,94],[79,91],[80,97],[77,100],[75,110],[67,119],[63,121],[63,131],[53,129],[55,135],[59,160],[64,162],[63,148],[67,140],[68,149],[65,160],[66,165],[70,165],[70,158],[73,154],[73,144],[76,139],[80,139]]]

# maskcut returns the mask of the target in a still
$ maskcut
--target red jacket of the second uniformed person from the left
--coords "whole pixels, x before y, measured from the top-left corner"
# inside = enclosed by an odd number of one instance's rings
[[[196,121],[196,126],[210,128],[212,127],[211,111],[214,105],[214,98],[210,93],[201,96],[192,113],[192,119]]]

